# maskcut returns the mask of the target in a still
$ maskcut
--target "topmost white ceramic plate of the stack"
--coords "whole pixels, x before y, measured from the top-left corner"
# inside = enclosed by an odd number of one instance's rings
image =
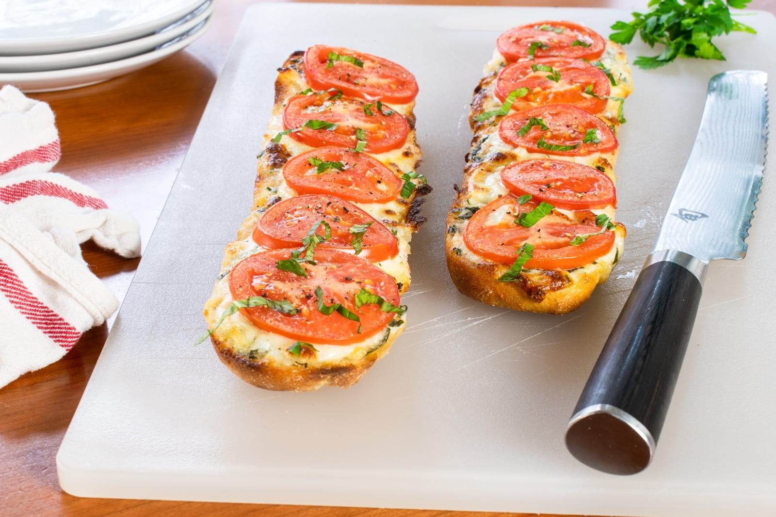
[[[147,36],[205,0],[5,0],[0,55],[70,52]]]

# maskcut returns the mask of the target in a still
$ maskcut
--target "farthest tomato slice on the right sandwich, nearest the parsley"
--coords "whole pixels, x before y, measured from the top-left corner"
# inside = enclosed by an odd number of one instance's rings
[[[574,45],[575,41],[581,41],[583,44]],[[535,48],[535,58],[559,56],[594,60],[601,57],[606,47],[604,38],[598,33],[572,22],[535,22],[514,27],[498,36],[496,47],[501,55],[512,63],[530,58],[528,50],[534,42],[543,45]],[[587,47],[584,46],[585,43]]]

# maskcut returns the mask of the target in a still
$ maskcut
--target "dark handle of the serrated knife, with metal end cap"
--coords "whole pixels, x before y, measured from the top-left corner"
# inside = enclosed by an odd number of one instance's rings
[[[611,474],[650,464],[698,312],[705,264],[668,258],[639,274],[566,430],[574,457]]]

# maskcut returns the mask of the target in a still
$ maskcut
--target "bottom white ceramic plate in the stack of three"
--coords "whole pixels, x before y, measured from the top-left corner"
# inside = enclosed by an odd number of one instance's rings
[[[56,91],[68,90],[96,84],[108,79],[119,77],[123,74],[147,67],[165,57],[182,50],[202,36],[210,27],[212,19],[200,22],[199,26],[182,36],[178,36],[156,50],[140,54],[140,56],[128,57],[123,60],[110,63],[95,64],[91,67],[68,68],[67,70],[54,70],[45,72],[25,72],[18,74],[0,74],[0,85],[13,84],[23,91]]]

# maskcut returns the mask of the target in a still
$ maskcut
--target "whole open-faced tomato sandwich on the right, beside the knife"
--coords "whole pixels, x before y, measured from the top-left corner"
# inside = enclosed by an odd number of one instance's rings
[[[572,22],[514,27],[496,47],[474,90],[448,269],[481,302],[565,314],[622,256],[614,167],[630,67],[617,43]]]

